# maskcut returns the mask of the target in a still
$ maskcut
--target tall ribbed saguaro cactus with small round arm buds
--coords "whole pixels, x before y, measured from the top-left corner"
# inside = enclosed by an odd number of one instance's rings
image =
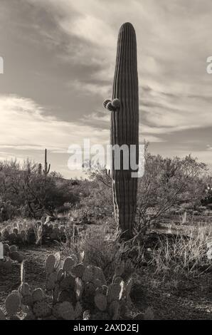
[[[113,82],[112,101],[105,100],[105,108],[111,115],[111,144],[123,145],[129,149],[135,145],[136,163],[139,155],[139,93],[137,75],[137,41],[134,27],[125,23],[120,28],[117,41],[117,58]],[[121,168],[115,168],[115,151],[112,152],[112,190],[115,220],[125,237],[132,236],[137,207],[137,177],[132,169],[124,170],[124,156]],[[125,162],[126,163],[126,162]],[[129,158],[130,165],[130,158]]]

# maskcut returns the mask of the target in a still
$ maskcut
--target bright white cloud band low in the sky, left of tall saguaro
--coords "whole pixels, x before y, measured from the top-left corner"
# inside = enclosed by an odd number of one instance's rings
[[[105,143],[108,130],[85,123],[69,123],[48,116],[33,100],[18,96],[0,96],[0,148],[41,150],[66,153],[70,144]]]

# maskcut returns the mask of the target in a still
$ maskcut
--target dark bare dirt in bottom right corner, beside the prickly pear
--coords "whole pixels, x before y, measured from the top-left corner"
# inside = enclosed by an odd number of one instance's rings
[[[132,300],[140,313],[151,307],[154,319],[212,320],[212,274],[160,282],[146,269],[134,285]]]

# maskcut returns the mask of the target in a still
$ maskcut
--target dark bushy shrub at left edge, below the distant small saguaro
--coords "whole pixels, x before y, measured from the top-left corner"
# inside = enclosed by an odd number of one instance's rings
[[[23,165],[16,161],[1,163],[0,194],[1,221],[18,214],[22,217],[52,215],[64,202],[75,204],[79,201],[72,184],[55,172],[40,175],[38,166],[29,160]]]

